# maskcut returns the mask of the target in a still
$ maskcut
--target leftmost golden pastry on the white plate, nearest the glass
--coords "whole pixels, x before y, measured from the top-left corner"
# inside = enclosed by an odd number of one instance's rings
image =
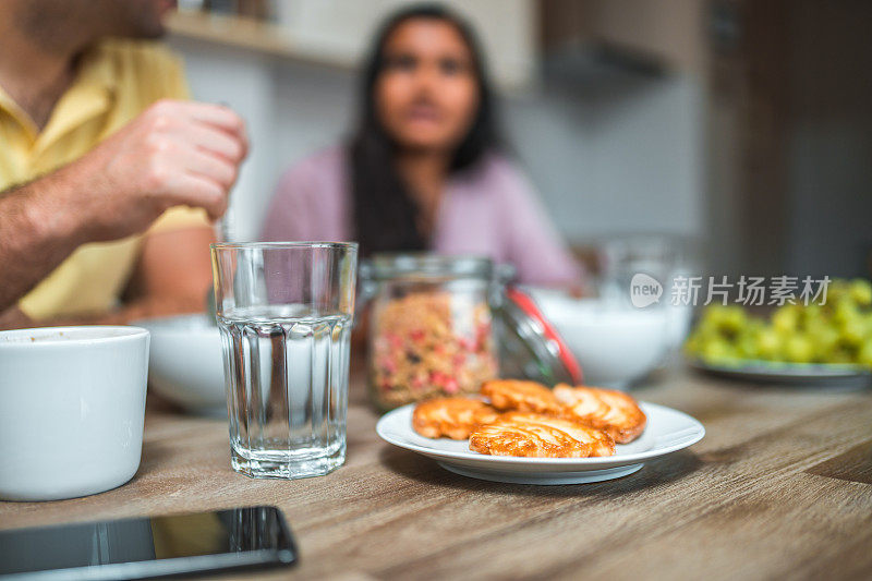
[[[467,439],[480,424],[493,422],[499,413],[472,398],[435,398],[422,401],[412,413],[412,427],[425,438]]]

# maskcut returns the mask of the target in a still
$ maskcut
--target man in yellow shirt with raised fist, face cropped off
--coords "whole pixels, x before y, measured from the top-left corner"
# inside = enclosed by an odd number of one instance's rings
[[[0,328],[203,307],[247,142],[228,108],[169,100],[181,65],[145,39],[173,3],[0,3]]]

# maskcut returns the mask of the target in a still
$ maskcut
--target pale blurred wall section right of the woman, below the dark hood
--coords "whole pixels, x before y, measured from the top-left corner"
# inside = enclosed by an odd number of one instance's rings
[[[677,75],[596,95],[553,90],[507,104],[513,144],[573,242],[702,230],[702,89]]]

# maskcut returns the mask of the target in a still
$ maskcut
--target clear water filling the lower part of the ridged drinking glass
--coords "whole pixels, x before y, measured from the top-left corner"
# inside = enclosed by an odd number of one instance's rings
[[[288,479],[341,465],[351,316],[274,305],[237,308],[218,325],[233,469]]]

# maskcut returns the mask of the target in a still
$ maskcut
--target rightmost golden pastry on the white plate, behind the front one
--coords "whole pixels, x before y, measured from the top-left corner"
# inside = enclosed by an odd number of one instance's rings
[[[560,384],[554,396],[564,404],[566,416],[605,429],[618,444],[638,438],[647,423],[635,399],[623,391]]]

